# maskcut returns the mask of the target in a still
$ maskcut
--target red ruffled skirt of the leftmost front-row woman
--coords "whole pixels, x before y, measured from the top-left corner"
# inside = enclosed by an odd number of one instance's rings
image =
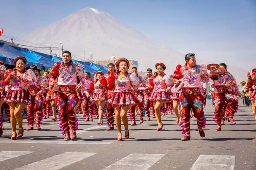
[[[31,103],[30,92],[28,89],[10,90],[6,94],[4,101],[6,103]]]

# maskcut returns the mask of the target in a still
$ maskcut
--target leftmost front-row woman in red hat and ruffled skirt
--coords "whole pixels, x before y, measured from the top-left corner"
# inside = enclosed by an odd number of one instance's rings
[[[31,69],[26,70],[27,60],[23,56],[18,56],[14,59],[16,68],[8,74],[4,83],[11,85],[11,90],[8,91],[5,102],[9,103],[11,113],[11,128],[12,140],[17,139],[16,123],[18,123],[18,137],[23,136],[22,116],[21,112],[29,103],[28,85],[36,80],[36,75]]]

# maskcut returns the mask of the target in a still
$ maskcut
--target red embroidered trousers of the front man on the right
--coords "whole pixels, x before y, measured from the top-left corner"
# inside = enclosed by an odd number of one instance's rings
[[[204,112],[203,112],[204,97],[201,93],[196,95],[187,95],[181,93],[181,113],[185,134],[190,134],[190,109],[194,112],[194,117],[197,118],[197,127],[203,127]]]

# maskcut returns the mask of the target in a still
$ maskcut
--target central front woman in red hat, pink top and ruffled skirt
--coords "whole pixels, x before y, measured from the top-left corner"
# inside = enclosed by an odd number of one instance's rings
[[[108,90],[114,89],[110,103],[114,106],[115,121],[118,131],[118,141],[122,141],[121,119],[123,121],[125,135],[124,138],[130,137],[128,130],[127,111],[130,105],[135,105],[135,98],[132,95],[132,80],[129,79],[127,72],[130,66],[126,58],[119,58],[116,62],[117,73],[112,72],[108,77]]]

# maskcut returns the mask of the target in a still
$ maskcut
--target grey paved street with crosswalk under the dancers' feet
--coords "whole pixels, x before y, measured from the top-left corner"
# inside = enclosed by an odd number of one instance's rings
[[[207,101],[208,104],[211,101]],[[117,131],[106,131],[107,124],[97,125],[79,118],[78,139],[63,141],[57,122],[44,119],[42,130],[26,131],[19,140],[10,140],[11,126],[4,123],[0,136],[1,170],[255,170],[256,121],[251,107],[242,106],[235,114],[236,125],[225,121],[215,132],[214,107],[207,105],[206,137],[197,131],[191,119],[191,141],[181,141],[175,114],[163,117],[163,131],[156,131],[156,119],[130,126],[130,138],[117,141]],[[23,120],[24,128],[26,119]],[[123,126],[122,126],[123,128]],[[124,131],[123,131],[124,137]]]

